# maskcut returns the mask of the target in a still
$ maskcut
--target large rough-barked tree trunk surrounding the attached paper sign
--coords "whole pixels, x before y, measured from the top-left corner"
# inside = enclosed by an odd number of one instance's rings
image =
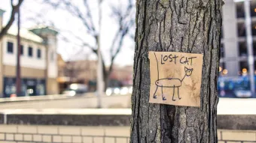
[[[137,0],[130,142],[218,142],[222,0]],[[201,107],[149,103],[149,51],[202,53]]]

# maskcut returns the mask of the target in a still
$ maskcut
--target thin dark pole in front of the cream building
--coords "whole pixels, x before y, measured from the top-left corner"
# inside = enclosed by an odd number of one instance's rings
[[[17,33],[17,66],[16,66],[16,94],[20,95],[20,7],[18,9],[18,33]]]

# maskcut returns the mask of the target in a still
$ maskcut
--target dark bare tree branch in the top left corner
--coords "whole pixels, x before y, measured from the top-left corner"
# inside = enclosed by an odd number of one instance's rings
[[[24,0],[19,0],[17,4],[14,4],[14,0],[11,0],[11,17],[7,23],[7,25],[5,25],[4,28],[2,28],[2,31],[0,31],[0,40],[2,39],[2,37],[7,33],[7,31],[9,30],[9,28],[11,28],[11,25],[13,24],[14,20],[15,20],[15,13],[18,12],[20,5],[23,3]]]

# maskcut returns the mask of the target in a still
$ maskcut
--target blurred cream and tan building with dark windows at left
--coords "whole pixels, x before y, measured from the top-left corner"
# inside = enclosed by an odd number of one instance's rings
[[[0,29],[4,10],[0,10]],[[20,71],[22,94],[58,94],[56,34],[53,28],[20,29]],[[9,97],[16,93],[17,28],[11,27],[0,41],[0,93]]]

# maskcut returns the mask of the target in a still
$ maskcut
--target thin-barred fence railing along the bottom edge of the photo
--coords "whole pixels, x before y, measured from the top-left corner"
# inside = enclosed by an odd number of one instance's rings
[[[33,142],[33,143],[42,143],[42,142],[58,142],[58,143],[129,143],[130,136],[90,136],[90,135],[59,135],[59,134],[47,134],[47,133],[0,133],[0,142]],[[246,142],[256,142],[256,141],[242,141],[242,140],[224,140],[220,139],[218,142],[221,143],[246,143]]]

